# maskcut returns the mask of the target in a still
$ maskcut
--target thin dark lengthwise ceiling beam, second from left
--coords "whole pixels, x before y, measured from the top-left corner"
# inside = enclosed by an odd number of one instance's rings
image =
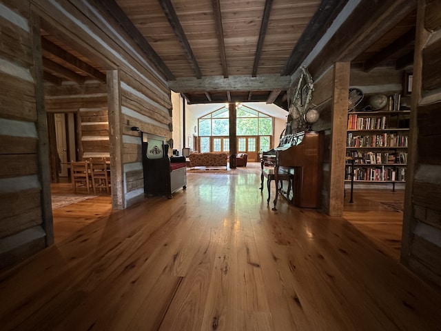
[[[196,57],[193,54],[192,48],[187,40],[187,36],[185,36],[184,29],[182,28],[181,22],[178,19],[178,15],[174,10],[172,1],[158,0],[158,2],[161,5],[161,8],[163,9],[165,17],[167,17],[167,20],[170,23],[170,26],[172,27],[174,34],[176,34],[176,37],[178,37],[178,40],[181,43],[185,55],[196,74],[196,78],[201,79],[202,78],[201,68],[199,68],[198,61],[196,60]]]

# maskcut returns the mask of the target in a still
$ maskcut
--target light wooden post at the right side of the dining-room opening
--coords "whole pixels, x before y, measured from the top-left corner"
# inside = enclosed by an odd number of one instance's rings
[[[123,144],[121,121],[121,91],[119,70],[107,70],[107,100],[109,112],[109,143],[112,155],[110,157],[110,182],[112,183],[112,208],[125,208],[125,185],[123,178]]]

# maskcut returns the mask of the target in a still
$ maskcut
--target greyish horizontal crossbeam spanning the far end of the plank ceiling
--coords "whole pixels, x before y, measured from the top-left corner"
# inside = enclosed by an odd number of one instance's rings
[[[169,81],[169,87],[174,92],[204,92],[204,91],[268,91],[287,90],[291,85],[291,77],[278,74],[258,77],[230,76],[223,78],[203,77],[202,79],[178,79]]]

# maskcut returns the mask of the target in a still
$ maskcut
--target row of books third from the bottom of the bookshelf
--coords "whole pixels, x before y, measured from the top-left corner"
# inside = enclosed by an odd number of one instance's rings
[[[409,137],[402,133],[347,134],[347,147],[407,147]]]

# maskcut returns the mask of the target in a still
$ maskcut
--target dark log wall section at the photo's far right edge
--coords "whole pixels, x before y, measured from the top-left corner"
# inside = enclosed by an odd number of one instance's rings
[[[420,0],[413,66],[402,262],[441,287],[441,6]],[[418,134],[417,134],[418,132]]]

